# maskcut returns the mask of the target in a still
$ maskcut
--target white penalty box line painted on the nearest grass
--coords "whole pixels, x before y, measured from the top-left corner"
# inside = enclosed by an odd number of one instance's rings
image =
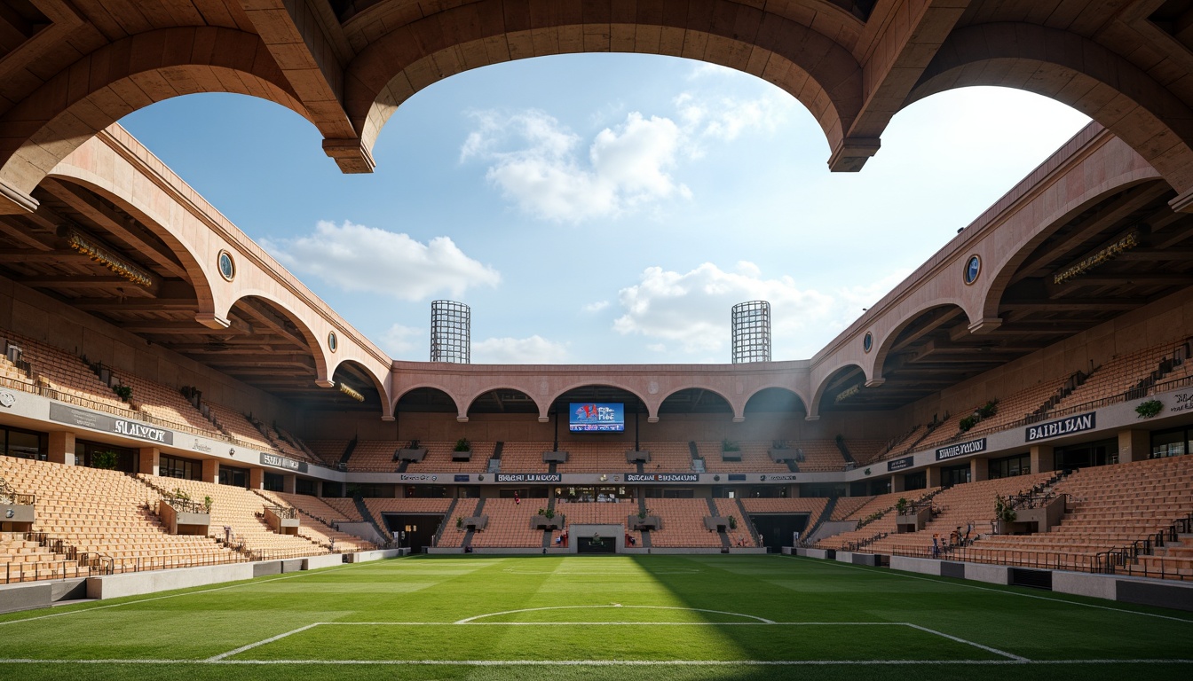
[[[262,638],[261,640],[256,640],[256,642],[253,642],[253,643],[248,643],[246,645],[241,645],[240,648],[236,648],[234,650],[229,650],[227,652],[221,652],[220,655],[214,655],[211,657],[208,657],[206,660],[203,660],[202,662],[209,662],[209,663],[212,663],[212,662],[256,663],[259,661],[228,660],[228,658],[231,657],[231,656],[234,656],[234,655],[240,655],[241,652],[246,652],[248,650],[253,650],[254,648],[259,648],[261,645],[268,645],[270,643],[274,643],[277,640],[282,640],[283,638],[293,636],[296,633],[302,633],[304,631],[315,629],[316,626],[905,626],[905,627],[909,627],[909,629],[922,631],[925,633],[929,633],[929,634],[933,634],[933,636],[939,636],[941,638],[947,638],[947,639],[953,640],[956,643],[960,643],[960,644],[964,644],[964,645],[970,645],[970,646],[977,648],[979,650],[984,650],[987,652],[991,652],[994,655],[999,655],[1001,657],[1006,657],[1007,661],[1010,661],[1010,662],[1032,662],[1031,660],[1028,660],[1026,657],[1022,657],[1022,656],[1019,656],[1019,655],[1013,655],[1010,652],[1006,652],[1003,650],[999,650],[997,648],[991,648],[989,645],[982,645],[981,643],[975,643],[972,640],[968,640],[968,639],[960,638],[958,636],[947,634],[947,633],[944,633],[944,632],[940,632],[940,631],[935,631],[935,630],[928,629],[926,626],[920,626],[917,624],[911,624],[911,623],[908,623],[908,621],[737,621],[737,623],[715,623],[715,621],[645,621],[645,623],[637,623],[637,621],[508,621],[508,623],[501,623],[501,621],[493,621],[493,623],[480,623],[480,621],[468,621],[468,620],[455,621],[455,623],[449,623],[449,621],[316,621],[316,623],[308,624],[305,626],[299,626],[298,629],[292,629],[290,631],[279,633],[277,636],[271,636],[268,638]],[[316,662],[316,661],[311,661],[311,662]],[[357,661],[357,662],[359,662],[359,663],[369,663],[369,661]],[[379,663],[397,663],[397,662],[414,663],[413,661],[376,661],[376,663],[378,663],[378,664]],[[544,663],[551,663],[552,661],[543,661],[543,662]],[[724,662],[725,663],[730,663],[729,661],[724,661]],[[754,662],[762,663],[760,661],[753,661],[752,663],[754,663]],[[923,663],[928,663],[929,661],[922,661],[922,662]],[[433,661],[424,661],[424,663],[429,664],[429,663],[433,663]],[[471,663],[471,662],[460,662],[460,663]],[[558,663],[562,664],[563,661],[558,661]],[[571,663],[582,663],[582,662],[573,661]]]

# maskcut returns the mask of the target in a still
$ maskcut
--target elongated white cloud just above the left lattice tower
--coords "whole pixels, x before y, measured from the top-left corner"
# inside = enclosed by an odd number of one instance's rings
[[[314,274],[345,291],[424,301],[446,292],[458,297],[472,286],[496,286],[501,274],[469,258],[447,236],[422,243],[397,234],[344,222],[321,221],[295,239],[261,240],[283,265]]]

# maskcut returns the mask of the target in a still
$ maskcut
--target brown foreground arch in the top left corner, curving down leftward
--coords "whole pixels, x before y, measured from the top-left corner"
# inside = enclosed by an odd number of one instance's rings
[[[0,118],[10,131],[0,137],[0,188],[33,210],[30,193],[80,144],[132,111],[198,92],[259,97],[310,119],[258,36],[214,26],[147,31],[82,56]]]

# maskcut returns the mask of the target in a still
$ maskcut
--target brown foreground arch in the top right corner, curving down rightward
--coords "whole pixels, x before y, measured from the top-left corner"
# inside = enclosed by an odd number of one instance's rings
[[[1121,55],[1034,24],[991,23],[953,31],[904,106],[971,85],[1014,87],[1068,104],[1114,132],[1177,192],[1193,199],[1193,111]]]

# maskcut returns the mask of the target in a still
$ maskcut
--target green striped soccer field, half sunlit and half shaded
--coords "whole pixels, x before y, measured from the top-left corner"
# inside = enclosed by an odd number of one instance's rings
[[[0,679],[1191,679],[1193,614],[783,556],[415,557],[0,615]]]

